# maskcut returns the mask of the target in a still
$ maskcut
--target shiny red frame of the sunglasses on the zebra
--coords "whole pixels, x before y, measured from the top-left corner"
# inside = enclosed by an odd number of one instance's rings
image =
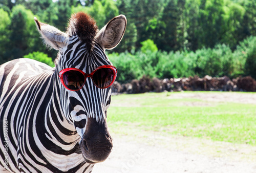
[[[114,71],[114,77],[113,77],[113,81],[111,82],[111,84],[110,85],[108,85],[108,87],[98,87],[96,84],[95,84],[95,82],[94,82],[94,80],[93,80],[93,74],[96,72],[96,71],[98,71],[99,69],[104,69],[104,68],[108,68],[108,69],[112,69],[113,71]],[[71,90],[71,89],[69,89],[67,86],[66,86],[66,84],[65,84],[65,82],[63,81],[63,74],[65,73],[65,72],[68,72],[68,71],[78,71],[78,72],[80,72],[81,74],[83,74],[83,76],[84,76],[84,81],[83,81],[83,84],[82,84],[82,86],[79,88],[79,89],[77,89],[77,90]],[[90,74],[87,74],[87,73],[84,73],[83,71],[81,71],[80,69],[76,69],[76,68],[67,68],[67,69],[63,69],[63,70],[61,70],[60,72],[59,72],[59,79],[60,79],[60,82],[62,83],[62,85],[66,88],[66,89],[68,89],[68,90],[70,90],[70,91],[78,91],[78,90],[80,90],[82,87],[83,87],[83,85],[86,83],[86,79],[88,78],[88,77],[90,77],[91,79],[92,79],[92,81],[93,81],[93,84],[97,87],[97,88],[100,88],[100,89],[106,89],[106,88],[109,88],[113,83],[114,83],[114,81],[116,80],[116,76],[117,76],[117,69],[114,67],[114,66],[110,66],[110,65],[105,65],[105,66],[100,66],[100,67],[98,67],[98,68],[96,68],[92,73],[90,73]]]

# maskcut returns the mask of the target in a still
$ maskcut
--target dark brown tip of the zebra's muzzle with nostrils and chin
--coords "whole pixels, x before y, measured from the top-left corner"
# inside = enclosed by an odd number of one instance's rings
[[[103,162],[109,157],[113,143],[109,135],[98,135],[93,139],[84,135],[79,146],[84,160],[87,163],[95,164]]]

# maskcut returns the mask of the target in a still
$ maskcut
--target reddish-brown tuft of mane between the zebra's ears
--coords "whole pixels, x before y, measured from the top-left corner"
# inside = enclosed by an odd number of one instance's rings
[[[90,15],[83,12],[72,14],[67,34],[77,34],[78,38],[89,46],[89,50],[93,46],[93,40],[97,32],[96,21]]]

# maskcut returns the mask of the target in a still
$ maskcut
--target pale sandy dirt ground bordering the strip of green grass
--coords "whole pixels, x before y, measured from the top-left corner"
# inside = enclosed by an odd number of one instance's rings
[[[255,104],[250,93],[180,93],[172,98],[199,98]],[[255,122],[256,125],[256,122]],[[94,166],[93,173],[256,172],[256,146],[216,142],[151,132],[134,136],[112,134],[110,157]]]

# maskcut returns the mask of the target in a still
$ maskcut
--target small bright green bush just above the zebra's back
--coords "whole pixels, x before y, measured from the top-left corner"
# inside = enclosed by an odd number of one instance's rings
[[[52,58],[49,58],[47,54],[44,54],[42,52],[33,52],[29,53],[28,55],[25,55],[24,58],[30,58],[37,61],[40,61],[42,63],[46,63],[50,67],[54,67],[54,62],[52,61]]]

